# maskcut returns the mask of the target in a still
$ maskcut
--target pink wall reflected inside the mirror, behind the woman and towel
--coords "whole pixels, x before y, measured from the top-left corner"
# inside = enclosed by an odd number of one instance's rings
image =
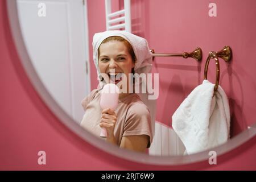
[[[114,8],[123,1],[113,1]],[[217,17],[208,15],[208,5],[217,5]],[[103,1],[88,1],[89,36],[105,31]],[[98,9],[98,11],[94,11]],[[153,73],[159,73],[159,98],[156,120],[171,127],[171,116],[189,93],[203,81],[204,65],[210,51],[224,46],[233,49],[233,60],[228,65],[220,60],[220,85],[229,98],[231,135],[237,135],[256,122],[256,1],[131,1],[132,31],[148,40],[155,52],[181,53],[203,49],[203,61],[156,57]],[[97,87],[96,69],[92,60],[92,89]],[[209,65],[208,79],[215,82],[215,65]]]

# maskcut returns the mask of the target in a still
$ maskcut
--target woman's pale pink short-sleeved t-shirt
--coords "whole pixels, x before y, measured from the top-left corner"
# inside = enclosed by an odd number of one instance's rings
[[[101,127],[101,89],[94,89],[82,100],[82,106],[85,113],[80,125],[89,130],[97,137],[100,137]],[[120,146],[123,136],[148,135],[147,147],[152,143],[152,128],[150,111],[142,102],[138,94],[132,93],[118,100],[117,108],[114,110],[117,114],[117,122],[114,128],[114,137]]]

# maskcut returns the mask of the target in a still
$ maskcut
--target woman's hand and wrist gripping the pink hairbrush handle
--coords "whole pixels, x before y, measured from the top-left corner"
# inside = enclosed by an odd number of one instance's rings
[[[104,127],[108,131],[106,140],[110,143],[117,144],[114,137],[115,122],[117,122],[117,114],[115,114],[114,110],[109,108],[102,110],[100,127]]]

